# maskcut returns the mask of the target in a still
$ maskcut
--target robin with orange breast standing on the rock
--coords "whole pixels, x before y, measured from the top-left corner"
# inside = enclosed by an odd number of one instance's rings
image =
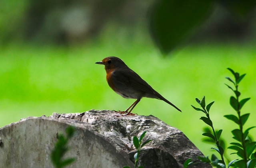
[[[105,66],[107,74],[106,79],[112,90],[121,95],[123,98],[136,99],[136,101],[132,103],[130,107],[128,107],[125,111],[120,112],[122,114],[126,113],[124,116],[135,115],[134,113],[131,113],[131,111],[138,104],[138,102],[140,102],[142,97],[163,100],[181,112],[178,107],[174,106],[174,104],[156,92],[156,90],[154,90],[145,80],[140,78],[140,76],[131,70],[120,58],[110,56],[95,63]]]

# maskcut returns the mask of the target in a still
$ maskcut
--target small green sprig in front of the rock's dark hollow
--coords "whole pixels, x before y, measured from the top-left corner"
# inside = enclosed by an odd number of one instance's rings
[[[142,134],[141,134],[141,136],[140,136],[140,138],[138,139],[137,138],[137,136],[134,136],[133,137],[133,144],[134,144],[134,146],[135,146],[135,148],[136,148],[136,150],[137,150],[137,152],[134,154],[134,160],[135,160],[135,162],[134,162],[134,168],[143,168],[143,166],[138,166],[137,167],[137,162],[138,162],[138,158],[139,158],[139,155],[140,155],[140,152],[141,152],[141,148],[144,146],[144,145],[146,145],[148,142],[150,142],[150,141],[152,141],[152,140],[146,140],[144,143],[142,143],[141,144],[141,142],[142,142],[142,139],[143,139],[143,137],[145,136],[145,134],[146,134],[146,131],[144,131]],[[123,168],[130,168],[129,166],[124,166]]]

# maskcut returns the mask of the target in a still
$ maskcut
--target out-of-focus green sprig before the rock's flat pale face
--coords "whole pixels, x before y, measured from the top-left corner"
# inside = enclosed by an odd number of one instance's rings
[[[63,159],[64,154],[69,150],[68,141],[74,135],[75,131],[73,126],[68,126],[65,130],[66,137],[64,134],[58,134],[54,149],[51,152],[51,160],[55,168],[63,168],[76,160],[76,158]]]

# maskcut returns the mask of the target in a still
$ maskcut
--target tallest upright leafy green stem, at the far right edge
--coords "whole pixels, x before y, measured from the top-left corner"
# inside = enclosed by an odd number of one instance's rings
[[[231,131],[232,134],[234,135],[232,138],[238,141],[238,143],[232,142],[230,143],[231,146],[229,146],[228,148],[232,150],[236,150],[237,151],[236,154],[241,158],[240,160],[234,162],[234,166],[242,167],[242,168],[254,167],[256,165],[256,152],[253,154],[253,151],[256,147],[256,142],[252,142],[250,139],[247,138],[247,136],[249,134],[249,130],[252,128],[255,128],[255,126],[247,128],[244,131],[244,124],[248,120],[250,113],[241,115],[242,107],[248,100],[250,100],[250,98],[244,98],[242,100],[239,100],[241,93],[238,91],[238,84],[246,74],[240,75],[238,72],[234,72],[230,68],[228,68],[228,70],[234,75],[234,78],[235,78],[235,80],[232,80],[229,77],[226,77],[226,79],[228,79],[230,82],[234,84],[235,88],[232,88],[227,84],[226,86],[228,86],[228,88],[230,88],[235,94],[235,97],[234,96],[230,97],[230,105],[236,111],[237,116],[230,114],[230,115],[225,115],[224,117],[226,117],[229,120],[232,120],[239,126],[238,129],[234,129]],[[235,153],[232,153],[232,154],[235,154]]]

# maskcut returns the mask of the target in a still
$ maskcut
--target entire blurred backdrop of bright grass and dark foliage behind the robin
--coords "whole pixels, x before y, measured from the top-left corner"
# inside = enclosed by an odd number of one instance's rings
[[[108,2],[108,3],[107,3]],[[211,118],[223,138],[232,142],[236,127],[224,118],[234,114],[232,95],[224,83],[232,77],[227,67],[241,74],[242,98],[250,97],[242,113],[251,113],[245,127],[255,126],[256,10],[235,17],[214,4],[208,20],[185,43],[166,56],[154,44],[148,29],[148,11],[154,1],[38,1],[0,2],[0,126],[28,116],[90,109],[125,110],[134,100],[124,99],[108,86],[103,66],[94,64],[117,56],[162,96],[143,98],[134,109],[180,129],[205,154],[205,126],[195,98],[215,101]],[[250,131],[255,139],[256,131]],[[228,153],[232,153],[228,150]]]

